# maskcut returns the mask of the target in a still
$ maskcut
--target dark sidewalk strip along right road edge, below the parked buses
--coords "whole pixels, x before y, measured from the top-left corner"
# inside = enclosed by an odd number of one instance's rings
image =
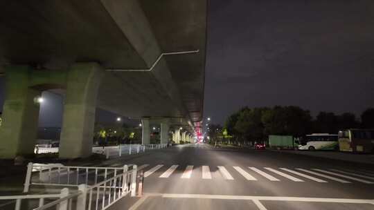
[[[355,162],[362,164],[374,164],[374,155],[344,153],[339,151],[291,151],[291,150],[271,150],[281,153],[292,153],[297,155],[307,155],[317,158],[328,158],[332,160],[342,160],[346,162]]]

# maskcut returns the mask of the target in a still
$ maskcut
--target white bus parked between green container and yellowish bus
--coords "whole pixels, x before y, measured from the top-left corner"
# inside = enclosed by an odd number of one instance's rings
[[[299,138],[299,150],[336,150],[339,148],[338,135],[313,133]]]

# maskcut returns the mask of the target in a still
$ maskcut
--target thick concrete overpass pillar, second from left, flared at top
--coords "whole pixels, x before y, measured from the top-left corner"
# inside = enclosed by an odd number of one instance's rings
[[[84,158],[91,155],[96,98],[102,77],[103,69],[94,62],[77,63],[69,69],[60,158]]]

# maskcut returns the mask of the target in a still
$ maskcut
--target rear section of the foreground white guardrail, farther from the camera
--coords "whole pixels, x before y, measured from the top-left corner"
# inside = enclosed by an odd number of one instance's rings
[[[132,166],[132,170],[134,171]],[[129,167],[64,166],[62,164],[35,164],[29,162],[24,183],[24,193],[30,185],[76,187],[79,184],[92,186],[118,174],[129,172]]]

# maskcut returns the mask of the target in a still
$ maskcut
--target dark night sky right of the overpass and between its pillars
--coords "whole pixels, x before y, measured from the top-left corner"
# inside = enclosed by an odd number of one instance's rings
[[[223,124],[242,106],[275,105],[359,115],[374,107],[373,67],[372,0],[211,0],[204,116]],[[49,96],[39,126],[61,124],[62,97]]]

